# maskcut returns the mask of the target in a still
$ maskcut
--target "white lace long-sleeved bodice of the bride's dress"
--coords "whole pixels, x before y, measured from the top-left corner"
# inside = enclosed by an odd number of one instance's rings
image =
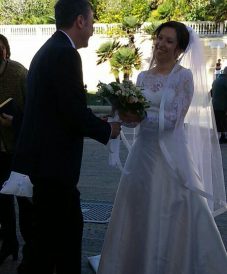
[[[159,109],[163,93],[166,90],[165,129],[175,128],[177,122],[184,120],[193,95],[191,71],[179,66],[174,75],[153,74],[143,71],[138,75],[137,85],[142,87],[144,96],[150,101],[147,122],[152,127],[159,123]]]

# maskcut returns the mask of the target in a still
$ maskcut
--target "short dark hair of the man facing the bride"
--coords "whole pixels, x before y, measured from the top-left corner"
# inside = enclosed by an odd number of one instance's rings
[[[79,15],[87,18],[92,8],[89,0],[58,0],[55,4],[56,28],[70,28]]]

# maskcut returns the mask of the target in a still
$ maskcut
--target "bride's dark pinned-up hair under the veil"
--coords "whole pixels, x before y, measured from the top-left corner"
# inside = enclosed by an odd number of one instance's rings
[[[156,37],[158,37],[160,31],[166,27],[175,29],[177,34],[178,46],[181,50],[185,51],[190,39],[189,31],[186,25],[177,21],[165,22],[158,26],[158,28],[155,30],[154,34],[156,35]]]

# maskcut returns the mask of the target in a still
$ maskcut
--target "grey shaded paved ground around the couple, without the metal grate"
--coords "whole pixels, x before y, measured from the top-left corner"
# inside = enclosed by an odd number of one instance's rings
[[[221,148],[224,173],[225,178],[227,179],[227,145],[222,145]],[[126,149],[123,149],[122,159],[124,160],[125,157]],[[107,159],[108,151],[105,146],[89,139],[85,141],[84,157],[79,182],[81,199],[83,201],[105,201],[110,203],[114,201],[120,172],[115,168],[109,167]],[[216,221],[225,246],[227,247],[227,213],[219,216]],[[87,257],[100,253],[106,227],[107,224],[85,223],[83,235],[82,274],[94,274],[88,264]],[[0,273],[16,274],[16,266],[20,259],[21,257],[19,257],[18,262],[12,262],[11,258],[8,258],[0,267]]]

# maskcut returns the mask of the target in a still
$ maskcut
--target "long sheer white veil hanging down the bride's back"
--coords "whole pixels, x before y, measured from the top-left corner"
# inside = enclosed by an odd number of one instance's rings
[[[183,176],[184,180],[187,180],[187,187],[205,197],[212,214],[216,216],[227,210],[222,156],[208,92],[203,47],[195,31],[191,28],[188,28],[188,31],[190,33],[188,48],[179,58],[175,68],[180,64],[185,68],[189,68],[193,74],[194,94],[184,120],[184,134],[197,182],[194,182],[195,179],[190,181],[188,179],[190,172],[187,173],[187,171],[183,170],[187,168],[182,163],[183,159],[180,158],[184,157],[184,153],[178,156],[176,160],[176,158],[172,157],[168,141],[161,140],[160,146],[163,154],[168,158],[167,161],[172,162],[177,173],[181,177]],[[173,72],[175,68],[169,75],[170,79],[174,77]],[[162,113],[161,108],[163,108],[164,112],[162,103],[164,104],[165,100],[161,102],[160,113]],[[162,118],[159,118],[161,121]],[[190,169],[190,167],[188,168]]]

